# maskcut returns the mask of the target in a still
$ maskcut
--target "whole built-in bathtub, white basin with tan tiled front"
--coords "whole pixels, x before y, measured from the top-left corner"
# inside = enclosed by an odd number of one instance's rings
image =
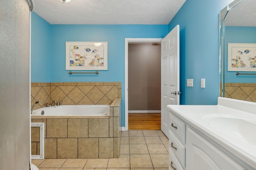
[[[44,123],[44,158],[118,158],[121,119],[121,98],[110,105],[50,106],[31,114],[32,123]],[[38,130],[33,128],[31,152],[38,154]]]

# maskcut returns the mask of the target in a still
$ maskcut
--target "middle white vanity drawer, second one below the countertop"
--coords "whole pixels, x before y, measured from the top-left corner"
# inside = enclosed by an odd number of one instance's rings
[[[185,150],[186,148],[184,145],[175,137],[175,135],[169,131],[169,150],[172,150],[172,152],[176,155],[178,160],[180,161],[180,164],[185,167]]]

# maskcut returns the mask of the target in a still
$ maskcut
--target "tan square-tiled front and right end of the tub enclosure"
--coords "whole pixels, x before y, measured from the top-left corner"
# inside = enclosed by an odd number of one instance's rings
[[[44,124],[45,158],[118,158],[121,137],[121,98],[110,105],[110,116],[33,116]],[[32,139],[37,134],[33,130]],[[33,144],[34,146],[34,144]],[[38,152],[32,148],[32,153]]]

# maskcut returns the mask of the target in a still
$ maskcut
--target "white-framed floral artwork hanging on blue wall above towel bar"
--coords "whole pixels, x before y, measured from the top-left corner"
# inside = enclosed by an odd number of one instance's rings
[[[66,42],[66,70],[108,70],[107,42]]]

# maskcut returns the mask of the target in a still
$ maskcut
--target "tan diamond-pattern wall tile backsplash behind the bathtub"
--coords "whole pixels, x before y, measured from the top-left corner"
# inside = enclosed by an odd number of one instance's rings
[[[32,82],[31,107],[34,109],[52,104],[52,101],[62,105],[76,104],[111,104],[115,98],[122,97],[121,82]]]

